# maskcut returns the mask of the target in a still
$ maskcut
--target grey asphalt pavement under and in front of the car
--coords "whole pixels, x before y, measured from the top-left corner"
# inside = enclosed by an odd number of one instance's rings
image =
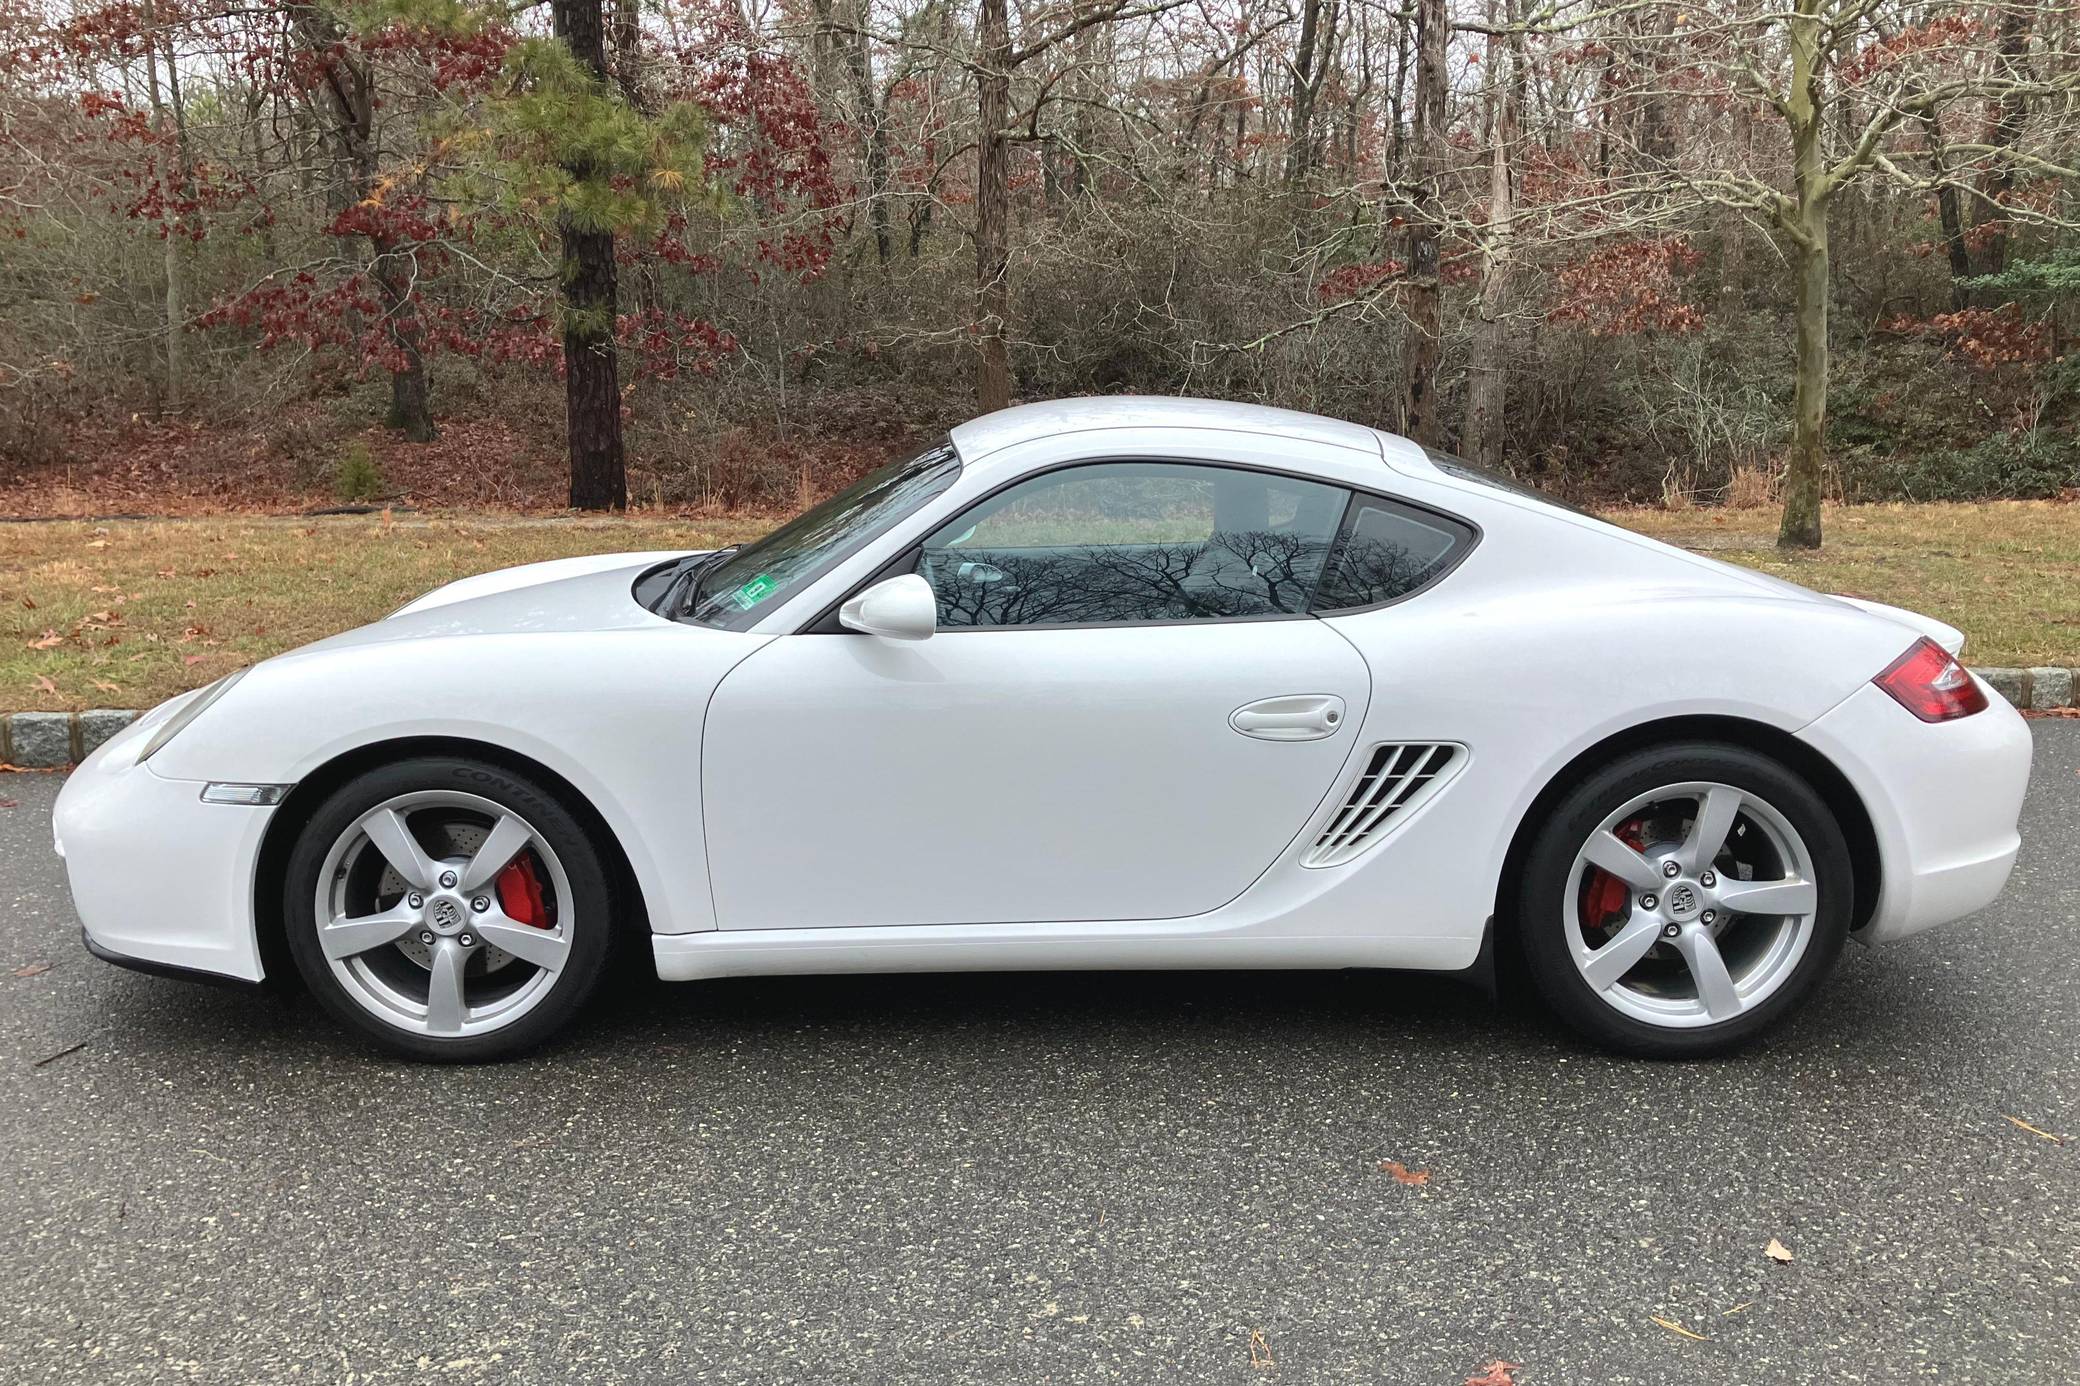
[[[414,1068],[94,961],[56,791],[0,776],[4,1382],[2080,1380],[2080,722],[1993,909],[1701,1066],[1423,976],[1046,974]]]

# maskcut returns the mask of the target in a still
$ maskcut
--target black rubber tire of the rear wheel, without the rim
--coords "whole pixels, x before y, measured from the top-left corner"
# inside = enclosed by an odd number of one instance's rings
[[[1818,907],[1805,953],[1770,995],[1731,1020],[1683,1028],[1627,1016],[1591,989],[1566,939],[1566,891],[1577,853],[1610,814],[1637,795],[1695,780],[1753,793],[1791,824],[1812,855]],[[1587,774],[1554,805],[1518,880],[1516,945],[1539,999],[1589,1041],[1637,1057],[1701,1059],[1741,1049],[1812,997],[1849,936],[1853,870],[1826,801],[1776,760],[1712,741],[1643,747]]]

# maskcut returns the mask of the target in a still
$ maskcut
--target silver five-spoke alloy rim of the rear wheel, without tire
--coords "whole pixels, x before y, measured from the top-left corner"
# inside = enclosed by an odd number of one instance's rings
[[[1656,820],[1681,822],[1681,835],[1622,841],[1620,830]],[[1583,920],[1606,872],[1624,884],[1624,912]],[[1589,991],[1668,1028],[1720,1024],[1768,999],[1797,970],[1820,912],[1812,851],[1791,822],[1751,791],[1706,780],[1643,793],[1604,818],[1575,855],[1564,899]]]

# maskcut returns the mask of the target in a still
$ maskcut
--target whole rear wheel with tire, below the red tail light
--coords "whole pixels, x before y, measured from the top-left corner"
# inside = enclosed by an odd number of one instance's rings
[[[1853,909],[1826,801],[1737,745],[1633,751],[1589,774],[1541,828],[1518,895],[1539,995],[1622,1053],[1737,1049],[1835,966]]]

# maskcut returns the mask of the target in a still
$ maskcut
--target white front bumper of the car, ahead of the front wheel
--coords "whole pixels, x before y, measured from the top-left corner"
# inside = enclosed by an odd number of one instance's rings
[[[110,739],[58,793],[54,847],[87,945],[125,966],[258,982],[254,866],[272,810],[204,803],[200,780],[139,766],[154,722]]]

